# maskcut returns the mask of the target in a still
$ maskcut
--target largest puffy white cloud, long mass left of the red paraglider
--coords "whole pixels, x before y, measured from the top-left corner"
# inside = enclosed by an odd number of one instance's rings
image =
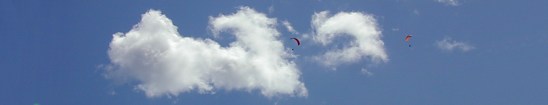
[[[307,96],[300,71],[284,50],[276,20],[248,7],[210,17],[215,34],[236,41],[223,47],[211,39],[184,37],[160,11],[150,10],[127,33],[113,35],[107,78],[137,83],[148,97],[198,91],[260,91],[264,96]]]

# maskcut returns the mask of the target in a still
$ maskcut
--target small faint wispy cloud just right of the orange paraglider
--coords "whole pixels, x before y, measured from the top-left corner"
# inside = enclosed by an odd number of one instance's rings
[[[438,48],[445,51],[460,50],[462,52],[467,52],[474,49],[474,46],[470,44],[454,41],[449,37],[445,37],[443,40],[436,41],[436,45],[438,46]]]

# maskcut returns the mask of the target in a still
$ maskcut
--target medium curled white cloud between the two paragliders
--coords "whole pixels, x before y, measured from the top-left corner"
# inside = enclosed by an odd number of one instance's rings
[[[330,49],[318,61],[326,66],[336,66],[342,63],[354,63],[362,59],[373,62],[386,62],[388,55],[381,40],[381,31],[375,18],[360,12],[340,12],[329,15],[322,11],[312,17],[312,27],[315,35],[314,42],[323,46],[330,46],[335,38],[351,37],[344,43],[344,48]]]

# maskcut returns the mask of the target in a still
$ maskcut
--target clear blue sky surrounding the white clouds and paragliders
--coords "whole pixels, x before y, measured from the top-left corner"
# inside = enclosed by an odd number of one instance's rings
[[[455,0],[282,1],[0,1],[0,104],[179,105],[179,104],[548,104],[547,1]],[[150,9],[159,10],[185,37],[215,38],[211,17],[247,6],[276,18],[286,47],[294,44],[281,21],[313,36],[312,17],[357,12],[373,16],[382,31],[386,62],[369,58],[325,67],[309,58],[331,50],[304,38],[292,53],[307,96],[272,98],[261,89],[194,89],[178,96],[149,97],[139,80],[107,79],[113,34],[127,33]],[[269,12],[269,8],[272,8]],[[225,35],[226,34],[226,35]],[[403,38],[412,34],[413,47]],[[227,36],[227,37],[224,37]],[[445,41],[452,50],[439,46]],[[346,37],[332,44],[348,44]],[[460,43],[460,45],[458,45]],[[471,49],[463,50],[464,46]],[[366,69],[371,74],[362,72]]]

